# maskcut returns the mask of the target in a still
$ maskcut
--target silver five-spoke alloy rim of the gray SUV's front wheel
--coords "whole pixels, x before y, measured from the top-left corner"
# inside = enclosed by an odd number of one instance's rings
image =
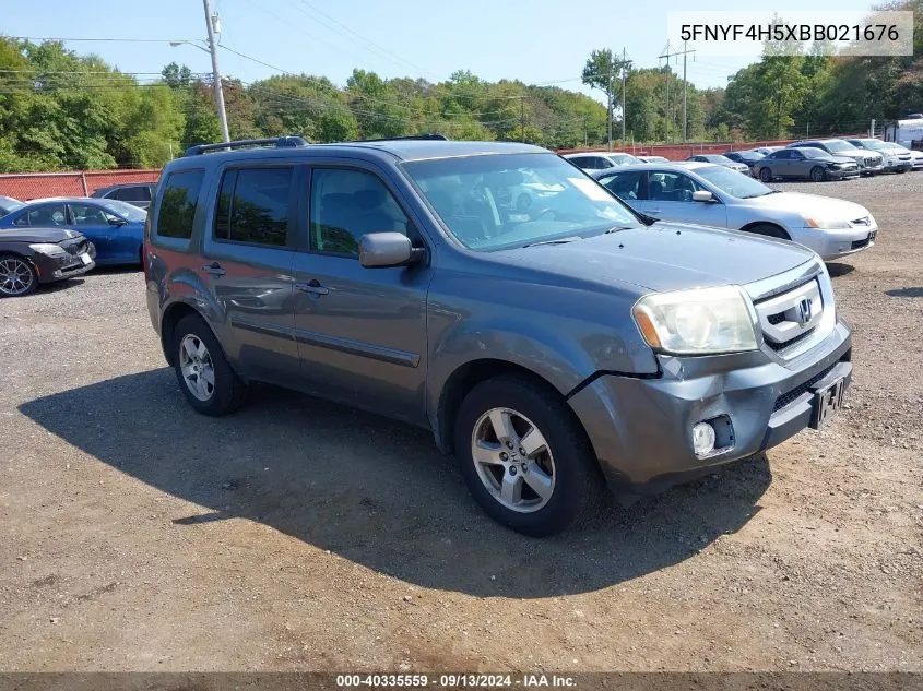
[[[539,511],[555,490],[555,461],[544,434],[511,408],[492,408],[474,425],[471,456],[477,477],[501,505]]]

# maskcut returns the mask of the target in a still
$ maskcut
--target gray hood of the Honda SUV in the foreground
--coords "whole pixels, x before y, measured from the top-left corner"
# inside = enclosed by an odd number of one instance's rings
[[[673,223],[496,254],[523,269],[658,291],[745,285],[816,258],[807,248],[786,240]]]

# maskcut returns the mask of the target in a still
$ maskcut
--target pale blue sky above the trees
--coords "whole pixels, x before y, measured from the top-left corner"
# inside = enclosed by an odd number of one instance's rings
[[[496,81],[554,83],[603,99],[580,83],[593,49],[622,52],[636,67],[656,67],[667,40],[667,13],[689,10],[687,0],[211,0],[221,17],[221,45],[265,64],[220,50],[225,76],[244,82],[279,70],[323,75],[344,85],[353,68],[384,78],[447,79],[470,70]],[[814,11],[866,10],[868,0],[815,0]],[[803,10],[804,0],[773,0],[761,9]],[[696,10],[739,10],[738,0],[699,0]],[[157,73],[176,61],[193,72],[211,71],[205,51],[168,40],[206,37],[201,0],[0,0],[0,34],[56,38],[119,38],[66,41],[94,52],[126,72]],[[145,39],[145,40],[142,40]],[[675,43],[674,43],[675,47]],[[696,56],[687,62],[690,83],[724,86],[753,58]],[[682,74],[682,61],[674,70]],[[267,67],[272,65],[272,67]],[[273,69],[276,68],[276,69]]]

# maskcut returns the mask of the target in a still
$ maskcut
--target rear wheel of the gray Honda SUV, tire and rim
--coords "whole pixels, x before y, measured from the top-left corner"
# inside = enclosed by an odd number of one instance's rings
[[[174,370],[189,405],[212,417],[237,410],[246,400],[247,386],[205,321],[198,314],[187,314],[173,335]]]

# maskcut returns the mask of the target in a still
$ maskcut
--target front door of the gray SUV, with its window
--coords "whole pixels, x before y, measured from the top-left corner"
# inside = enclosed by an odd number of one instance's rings
[[[425,421],[428,263],[365,269],[359,239],[423,239],[400,194],[371,168],[315,167],[306,251],[295,258],[295,338],[306,385],[319,395]]]

